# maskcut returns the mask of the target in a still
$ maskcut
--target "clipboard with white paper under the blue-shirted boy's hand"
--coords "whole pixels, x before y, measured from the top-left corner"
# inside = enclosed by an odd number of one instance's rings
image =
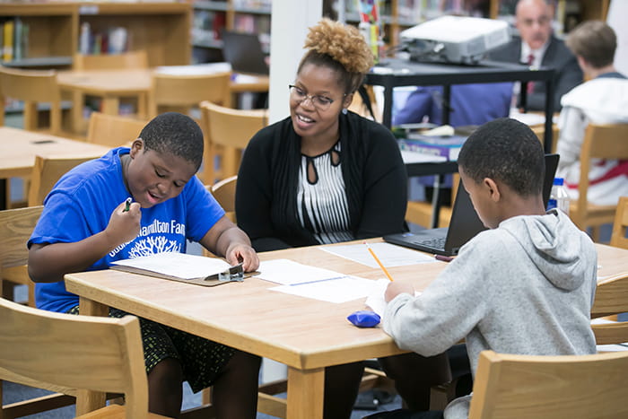
[[[122,259],[112,262],[110,267],[118,271],[204,286],[241,281],[244,277],[241,265],[231,266],[219,258],[206,258],[179,252],[162,252],[139,258]]]

